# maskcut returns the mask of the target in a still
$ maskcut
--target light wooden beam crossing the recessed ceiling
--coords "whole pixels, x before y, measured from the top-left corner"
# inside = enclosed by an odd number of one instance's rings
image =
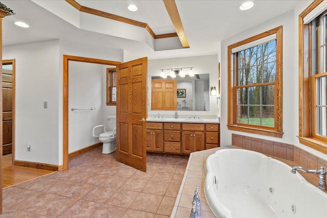
[[[183,28],[182,21],[180,19],[177,6],[175,3],[175,0],[162,0],[164,1],[164,4],[166,6],[167,12],[170,16],[170,19],[173,22],[173,25],[175,27],[176,33],[178,35],[178,38],[180,40],[180,43],[183,47],[190,47],[188,39],[186,38],[186,34]]]

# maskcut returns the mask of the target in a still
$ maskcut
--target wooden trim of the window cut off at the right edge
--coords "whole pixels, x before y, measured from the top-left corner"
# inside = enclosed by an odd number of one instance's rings
[[[305,25],[303,18],[314,10],[323,0],[313,1],[298,17],[298,68],[299,68],[299,142],[327,154],[327,143],[312,137],[311,123],[311,34],[309,25]],[[306,61],[303,61],[306,60]]]

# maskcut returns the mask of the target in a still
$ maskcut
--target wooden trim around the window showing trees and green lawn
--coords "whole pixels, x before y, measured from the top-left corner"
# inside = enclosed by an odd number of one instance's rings
[[[265,127],[265,126],[254,126],[246,124],[237,124],[237,110],[235,106],[237,105],[236,98],[236,88],[234,84],[234,78],[232,74],[235,74],[232,69],[232,53],[231,50],[243,44],[247,44],[251,41],[258,40],[260,38],[272,35],[276,33],[276,87],[275,87],[275,127]],[[272,137],[282,138],[283,136],[283,27],[279,26],[272,30],[266,31],[264,33],[255,35],[248,39],[242,40],[240,42],[231,44],[228,46],[228,115],[227,115],[227,127],[229,130],[236,130],[247,133],[254,133],[259,135],[267,135]],[[237,79],[237,78],[235,78]]]

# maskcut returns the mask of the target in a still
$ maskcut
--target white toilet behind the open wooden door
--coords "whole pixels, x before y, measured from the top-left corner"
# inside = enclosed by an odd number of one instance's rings
[[[109,131],[106,131],[105,125],[99,125],[93,128],[93,136],[99,137],[103,143],[102,154],[109,154],[116,150],[116,116],[107,116]],[[103,127],[103,133],[95,135],[94,131],[97,128]]]

